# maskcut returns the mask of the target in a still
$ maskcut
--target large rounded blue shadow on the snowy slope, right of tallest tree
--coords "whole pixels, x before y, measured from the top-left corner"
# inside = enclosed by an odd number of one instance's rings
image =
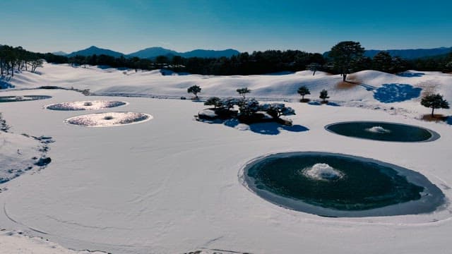
[[[383,103],[404,102],[421,95],[422,88],[412,87],[408,84],[383,84],[375,90],[374,99]]]

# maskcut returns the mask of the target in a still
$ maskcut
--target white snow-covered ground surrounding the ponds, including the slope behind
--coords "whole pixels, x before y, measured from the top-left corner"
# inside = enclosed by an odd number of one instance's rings
[[[44,135],[55,141],[49,144],[47,156],[52,162],[45,169],[32,169],[30,174],[25,172],[0,185],[6,190],[0,193],[0,228],[8,230],[0,231],[0,253],[450,253],[449,203],[431,214],[319,217],[259,198],[242,185],[240,174],[247,162],[263,155],[335,152],[420,172],[451,200],[451,121],[433,123],[418,118],[429,113],[420,106],[423,92],[439,92],[452,101],[452,75],[362,71],[352,76],[364,85],[343,89],[337,85],[339,75],[316,73],[313,77],[309,71],[164,76],[159,71],[124,74],[116,69],[49,64],[40,71],[40,75],[16,74],[11,83],[17,90],[0,92],[0,96],[52,96],[0,104],[2,116],[11,126],[10,133],[0,133],[0,141],[15,142],[8,150],[1,148],[2,157],[13,157],[17,149],[25,148],[32,155],[40,145],[12,135]],[[41,85],[128,97],[23,90]],[[189,97],[186,88],[191,85],[202,87],[202,97],[237,96],[237,88],[249,87],[250,97],[292,101],[286,104],[297,113],[290,116],[294,126],[202,123],[194,121],[194,115],[206,108],[200,102],[149,98]],[[308,98],[317,99],[319,91],[326,89],[334,104],[352,107],[299,103],[296,90],[300,85],[311,90]],[[129,97],[136,95],[141,97]],[[87,100],[129,103],[90,113],[143,112],[153,118],[125,126],[86,128],[64,123],[87,114],[84,111],[43,108]],[[451,116],[452,110],[437,113]],[[429,143],[391,143],[347,138],[324,129],[330,123],[357,120],[422,126],[441,138]],[[24,159],[23,163],[30,162]]]

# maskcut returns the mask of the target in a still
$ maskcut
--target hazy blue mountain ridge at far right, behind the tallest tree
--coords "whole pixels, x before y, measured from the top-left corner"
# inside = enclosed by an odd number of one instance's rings
[[[452,52],[452,47],[439,47],[434,49],[369,49],[364,52],[364,56],[372,58],[381,51],[386,51],[391,54],[391,56],[400,56],[403,59],[420,59],[448,54]],[[330,52],[325,52],[323,53],[323,56],[328,56],[329,53]]]

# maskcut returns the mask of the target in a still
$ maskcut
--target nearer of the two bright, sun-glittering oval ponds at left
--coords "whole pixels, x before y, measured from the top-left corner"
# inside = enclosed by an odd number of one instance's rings
[[[64,120],[64,122],[85,127],[109,127],[141,123],[150,119],[153,119],[153,116],[145,113],[109,112],[74,116]]]

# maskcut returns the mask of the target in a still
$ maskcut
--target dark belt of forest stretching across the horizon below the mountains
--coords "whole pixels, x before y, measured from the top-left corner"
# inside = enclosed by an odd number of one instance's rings
[[[34,72],[42,66],[42,59],[48,63],[69,63],[72,66],[111,66],[112,68],[131,68],[138,71],[165,68],[176,72],[203,75],[254,75],[295,72],[303,70],[326,71],[338,74],[338,68],[332,59],[322,54],[313,54],[299,50],[267,50],[265,52],[244,52],[237,56],[220,58],[184,58],[182,56],[157,56],[140,59],[107,55],[58,56],[51,53],[28,52],[22,47],[0,46],[0,75],[13,75],[13,70]],[[405,60],[393,57],[388,52],[379,52],[373,58],[360,56],[348,66],[350,73],[362,70],[376,70],[398,73],[406,70],[452,72],[452,53],[422,59]]]

